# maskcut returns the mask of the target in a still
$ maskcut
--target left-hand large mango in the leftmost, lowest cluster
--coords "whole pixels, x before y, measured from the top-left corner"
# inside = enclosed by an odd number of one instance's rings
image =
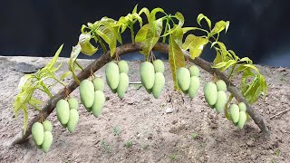
[[[44,129],[43,124],[40,122],[35,122],[31,132],[33,134],[34,143],[38,146],[43,144]]]

